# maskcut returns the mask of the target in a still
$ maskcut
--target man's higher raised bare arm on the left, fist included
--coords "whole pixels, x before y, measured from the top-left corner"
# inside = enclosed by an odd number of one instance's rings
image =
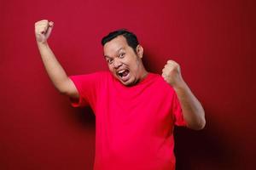
[[[67,96],[77,99],[79,92],[74,86],[72,80],[67,77],[66,72],[62,68],[59,61],[55,58],[55,54],[49,48],[47,39],[53,29],[54,23],[48,20],[40,20],[35,23],[35,35],[38,43],[39,53],[44,63],[45,70],[53,82],[55,88]]]

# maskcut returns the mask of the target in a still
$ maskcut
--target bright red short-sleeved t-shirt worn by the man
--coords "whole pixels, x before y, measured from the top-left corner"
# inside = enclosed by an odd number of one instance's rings
[[[185,126],[173,88],[154,73],[126,87],[109,71],[70,77],[79,91],[73,106],[96,115],[95,170],[172,170],[173,127]]]

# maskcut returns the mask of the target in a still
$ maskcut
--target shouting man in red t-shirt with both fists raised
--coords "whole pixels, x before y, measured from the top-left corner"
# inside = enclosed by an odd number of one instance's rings
[[[174,125],[199,130],[206,123],[179,65],[168,60],[161,77],[149,73],[137,37],[119,30],[102,39],[109,71],[67,77],[47,43],[53,25],[35,24],[38,49],[55,88],[96,115],[94,169],[175,169]]]

